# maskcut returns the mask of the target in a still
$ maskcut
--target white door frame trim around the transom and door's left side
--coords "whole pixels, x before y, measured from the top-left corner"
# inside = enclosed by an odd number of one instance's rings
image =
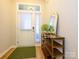
[[[24,4],[24,5],[37,5],[37,6],[40,6],[40,11],[38,12],[38,11],[24,11],[24,10],[19,10],[19,4]],[[18,17],[17,17],[17,15],[18,15],[18,12],[27,12],[27,13],[40,13],[41,14],[41,5],[40,4],[36,4],[36,3],[24,3],[24,2],[18,2],[18,3],[16,3],[16,35],[17,35],[17,19],[18,19]],[[41,19],[41,16],[40,16],[40,19]],[[40,22],[41,22],[41,20],[40,20]],[[40,24],[40,26],[41,26],[41,24]],[[17,39],[17,36],[16,36],[16,46],[18,46],[18,39]]]

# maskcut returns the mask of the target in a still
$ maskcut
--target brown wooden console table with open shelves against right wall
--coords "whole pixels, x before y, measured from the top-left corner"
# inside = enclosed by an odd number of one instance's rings
[[[41,41],[45,59],[56,59],[57,57],[65,59],[64,37],[45,32],[41,34]]]

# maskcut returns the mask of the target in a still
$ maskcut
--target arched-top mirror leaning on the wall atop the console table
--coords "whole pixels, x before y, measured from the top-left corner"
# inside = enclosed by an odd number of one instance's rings
[[[55,12],[50,16],[49,28],[53,27],[53,33],[57,34],[58,14]]]

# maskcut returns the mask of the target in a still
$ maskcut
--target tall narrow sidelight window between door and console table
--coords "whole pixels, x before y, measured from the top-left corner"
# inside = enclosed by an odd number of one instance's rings
[[[40,42],[40,13],[35,14],[35,40]]]

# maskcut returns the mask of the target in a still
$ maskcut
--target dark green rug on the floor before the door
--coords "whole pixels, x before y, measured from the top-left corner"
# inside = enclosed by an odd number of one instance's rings
[[[15,51],[8,57],[8,59],[25,59],[36,57],[35,47],[18,47]]]

